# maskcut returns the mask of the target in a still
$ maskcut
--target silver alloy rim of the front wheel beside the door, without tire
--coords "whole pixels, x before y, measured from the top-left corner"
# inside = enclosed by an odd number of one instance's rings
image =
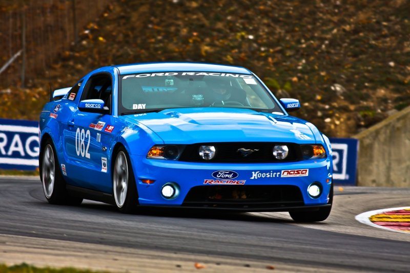
[[[125,153],[120,151],[115,158],[113,173],[114,198],[118,208],[122,208],[128,190],[128,164]]]

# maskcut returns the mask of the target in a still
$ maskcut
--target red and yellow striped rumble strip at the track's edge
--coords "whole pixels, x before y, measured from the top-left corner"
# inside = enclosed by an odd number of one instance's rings
[[[410,233],[410,209],[387,211],[369,217],[374,224]]]

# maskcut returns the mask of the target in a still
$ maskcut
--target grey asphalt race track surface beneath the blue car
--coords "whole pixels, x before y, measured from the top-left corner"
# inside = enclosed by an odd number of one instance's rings
[[[281,263],[299,269],[409,272],[410,235],[379,230],[354,217],[408,206],[410,189],[335,187],[335,192],[334,209],[326,221],[302,224],[286,213],[150,209],[124,215],[91,201],[79,207],[53,206],[39,180],[3,177],[0,235]]]

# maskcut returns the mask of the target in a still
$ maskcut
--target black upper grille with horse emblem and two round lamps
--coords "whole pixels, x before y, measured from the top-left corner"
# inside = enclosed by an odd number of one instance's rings
[[[203,160],[199,156],[201,145],[215,146],[216,153],[212,160]],[[273,156],[275,145],[287,145],[289,154],[284,160],[277,160]],[[243,156],[239,149],[252,149],[254,152]],[[187,145],[183,150],[179,161],[186,162],[215,162],[215,163],[256,163],[256,162],[294,162],[302,160],[300,146],[295,143],[272,143],[272,142],[230,142],[230,143],[197,143]]]

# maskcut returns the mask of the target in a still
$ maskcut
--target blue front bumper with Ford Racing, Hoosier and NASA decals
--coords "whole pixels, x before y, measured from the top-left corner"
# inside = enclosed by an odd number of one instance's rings
[[[142,206],[173,206],[190,208],[217,208],[236,209],[242,211],[289,211],[301,208],[319,208],[329,203],[329,193],[332,186],[331,157],[322,160],[309,160],[291,163],[252,163],[252,164],[226,164],[226,163],[192,163],[169,160],[148,160],[144,156],[131,155],[134,176],[138,190],[138,201]],[[284,170],[309,170],[305,176],[281,177]],[[231,180],[243,181],[242,185],[211,185],[209,180],[217,180],[212,173],[218,170],[230,170],[238,174]],[[265,174],[265,175],[263,175]],[[268,175],[270,174],[270,175]],[[269,176],[269,177],[268,177]],[[144,184],[142,179],[155,180],[153,184]],[[177,185],[178,195],[173,199],[166,199],[161,195],[161,188],[167,183]],[[206,183],[206,184],[204,184]],[[308,187],[312,183],[321,186],[322,192],[318,198],[312,198]],[[269,202],[238,198],[234,201],[221,203],[220,200],[206,202],[188,202],[187,196],[195,187],[236,187],[257,188],[268,187],[293,187],[300,192],[299,199],[277,199]],[[245,188],[244,187],[244,188]],[[281,188],[278,189],[281,189]],[[201,188],[200,188],[201,189]],[[232,188],[233,189],[233,188]],[[270,189],[275,192],[275,189]],[[289,194],[288,194],[289,195]],[[221,206],[223,205],[223,206]],[[319,206],[319,207],[318,207]]]

